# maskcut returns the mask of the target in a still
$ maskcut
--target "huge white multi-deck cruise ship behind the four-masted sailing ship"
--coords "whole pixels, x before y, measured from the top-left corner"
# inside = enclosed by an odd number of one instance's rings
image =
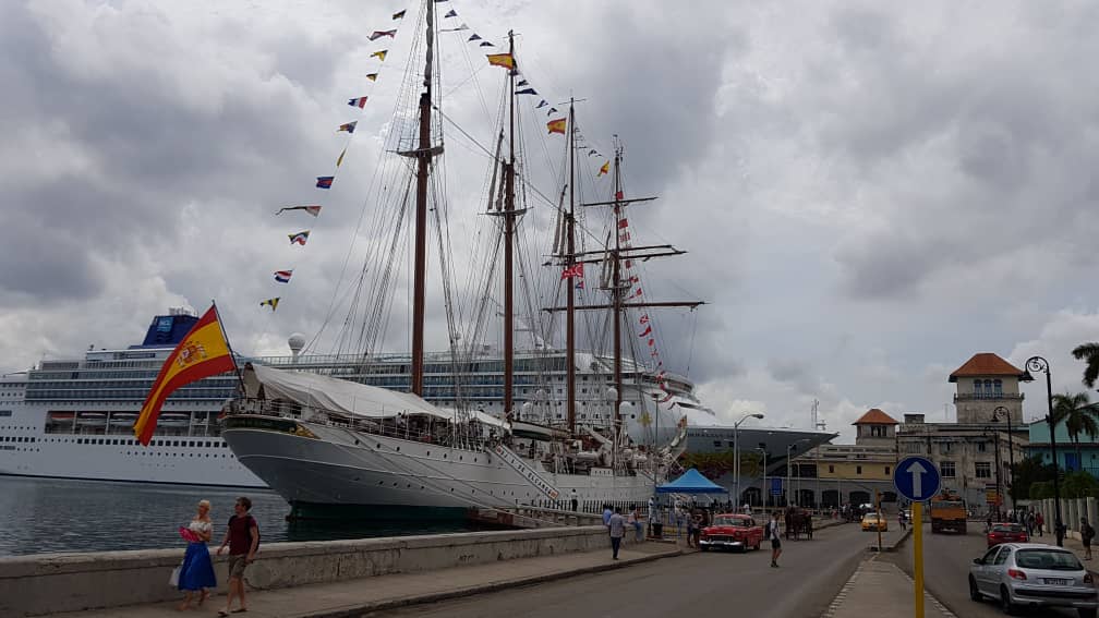
[[[170,310],[153,319],[141,344],[88,350],[84,358],[42,361],[27,372],[0,376],[0,474],[266,487],[237,462],[221,437],[218,417],[238,388],[233,374],[209,377],[176,390],[164,406],[153,442],[141,446],[134,440],[131,428],[160,365],[195,321],[197,317],[186,311]],[[291,338],[290,346],[291,355],[238,362],[408,390],[408,354],[364,363],[351,355],[300,355],[300,338]],[[559,399],[564,391],[564,362],[562,352],[536,350],[521,354],[517,361],[520,371],[515,400],[521,407],[531,404],[521,409],[539,410],[540,418],[560,418],[560,410],[546,413],[544,408],[559,405],[550,400]],[[612,379],[610,360],[579,354],[577,369],[578,418],[581,422],[606,424],[612,408],[606,401]],[[443,354],[431,355],[426,380],[426,400],[440,407],[454,406],[458,390],[455,372]],[[478,402],[488,415],[502,415],[499,354],[484,351],[457,382],[463,398]],[[645,373],[634,372],[631,382],[635,387],[628,389],[628,398],[645,393],[654,401],[664,400],[655,422],[625,419],[631,434],[641,443],[645,443],[645,435],[652,438],[652,428],[660,423],[674,428],[682,417],[676,411],[678,406],[692,411],[704,409],[692,394],[693,385],[682,377],[665,376],[666,391],[660,390],[655,376]],[[666,433],[662,429],[660,434]]]

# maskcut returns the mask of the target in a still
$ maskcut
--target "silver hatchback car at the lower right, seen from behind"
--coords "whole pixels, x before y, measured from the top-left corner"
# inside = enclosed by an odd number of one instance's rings
[[[1001,543],[974,559],[969,598],[1000,603],[1004,614],[1023,607],[1075,607],[1096,618],[1099,593],[1073,552],[1041,543]]]

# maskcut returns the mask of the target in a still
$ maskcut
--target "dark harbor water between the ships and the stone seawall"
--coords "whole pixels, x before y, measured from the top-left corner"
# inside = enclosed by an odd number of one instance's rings
[[[289,505],[265,489],[0,476],[0,555],[184,549],[179,527],[211,503],[217,547],[237,496],[252,500],[263,543],[431,534],[462,522],[288,522]]]

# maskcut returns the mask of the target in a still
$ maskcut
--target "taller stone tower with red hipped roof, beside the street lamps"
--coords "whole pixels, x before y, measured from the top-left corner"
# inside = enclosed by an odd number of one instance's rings
[[[1023,395],[1019,391],[1022,369],[991,352],[974,354],[951,374],[950,382],[957,384],[954,407],[958,423],[989,424],[997,408],[1003,406],[1011,415],[1011,423],[1023,423]],[[1002,412],[1000,421],[1004,422]]]

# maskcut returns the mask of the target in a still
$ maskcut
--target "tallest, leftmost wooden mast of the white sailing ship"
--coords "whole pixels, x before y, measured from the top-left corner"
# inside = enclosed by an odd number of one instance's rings
[[[423,396],[423,322],[428,280],[428,176],[431,157],[431,63],[434,43],[434,0],[426,1],[428,49],[424,57],[423,92],[420,93],[420,142],[407,154],[417,158],[415,175],[415,265],[412,284],[412,376],[410,390]],[[441,148],[439,148],[441,150]]]

